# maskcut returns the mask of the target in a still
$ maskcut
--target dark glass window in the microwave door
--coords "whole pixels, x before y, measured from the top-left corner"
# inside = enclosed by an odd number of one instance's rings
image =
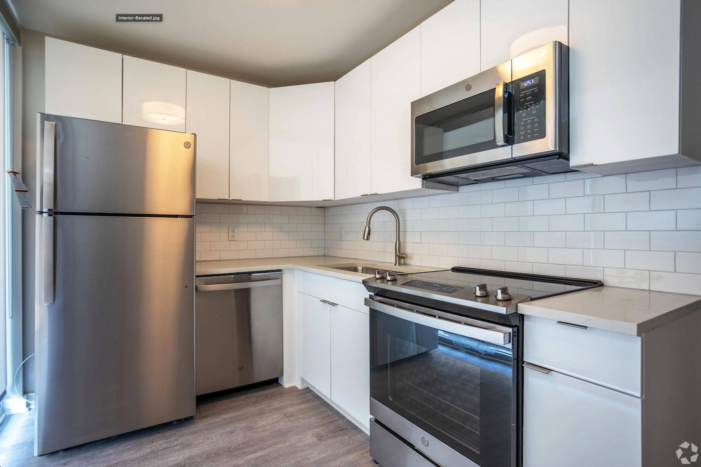
[[[497,148],[494,89],[424,113],[414,125],[416,165]]]

